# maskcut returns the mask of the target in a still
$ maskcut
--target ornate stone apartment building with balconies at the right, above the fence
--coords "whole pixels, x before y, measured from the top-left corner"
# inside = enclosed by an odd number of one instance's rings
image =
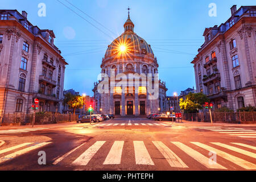
[[[238,109],[256,103],[256,6],[236,5],[220,26],[205,28],[205,42],[192,61],[197,92],[215,109]]]

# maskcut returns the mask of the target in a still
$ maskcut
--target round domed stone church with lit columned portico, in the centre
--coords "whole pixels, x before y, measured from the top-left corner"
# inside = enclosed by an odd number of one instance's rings
[[[166,111],[166,83],[158,79],[158,62],[151,46],[134,32],[134,24],[128,15],[124,24],[125,32],[108,46],[102,58],[102,75],[114,83],[106,86],[108,93],[99,93],[102,80],[94,83],[94,100],[97,113],[115,115],[145,115]],[[117,86],[118,78],[135,76],[154,85],[154,96],[150,93],[149,84],[132,81],[129,86]],[[137,76],[136,76],[137,75]],[[113,77],[114,78],[113,78]],[[152,77],[151,77],[152,76]],[[143,78],[142,78],[143,77]],[[151,79],[151,80],[150,80]],[[107,83],[109,83],[107,81]],[[113,92],[112,92],[113,91]],[[156,93],[157,92],[157,93]]]

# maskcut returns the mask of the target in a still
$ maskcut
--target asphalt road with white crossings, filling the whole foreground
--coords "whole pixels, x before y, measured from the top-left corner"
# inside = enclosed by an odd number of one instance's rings
[[[255,170],[255,137],[256,125],[143,118],[1,127],[0,170]]]

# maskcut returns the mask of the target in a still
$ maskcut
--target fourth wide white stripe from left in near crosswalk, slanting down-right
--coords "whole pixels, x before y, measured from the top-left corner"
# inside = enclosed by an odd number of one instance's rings
[[[168,148],[163,142],[152,141],[156,148],[162,153],[171,167],[188,168],[188,166]]]

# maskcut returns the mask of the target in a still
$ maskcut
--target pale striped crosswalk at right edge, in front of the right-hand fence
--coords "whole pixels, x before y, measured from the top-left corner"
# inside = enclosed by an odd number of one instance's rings
[[[222,134],[228,134],[240,138],[256,138],[256,130],[242,129],[236,127],[224,127],[224,126],[201,126],[196,129],[204,129],[209,131],[216,131]]]

